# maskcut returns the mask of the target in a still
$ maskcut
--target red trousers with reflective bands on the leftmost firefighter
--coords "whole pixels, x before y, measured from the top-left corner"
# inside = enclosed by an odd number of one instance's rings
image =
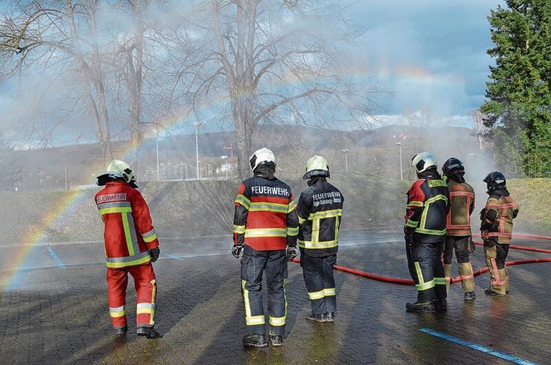
[[[136,325],[152,327],[157,284],[151,262],[121,269],[107,269],[107,300],[111,322],[115,328],[127,325],[125,305],[128,273],[134,278],[136,287]]]

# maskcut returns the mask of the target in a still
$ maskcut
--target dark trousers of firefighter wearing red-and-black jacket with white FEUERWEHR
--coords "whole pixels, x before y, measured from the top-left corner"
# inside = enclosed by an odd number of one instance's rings
[[[241,293],[249,335],[266,334],[262,305],[262,274],[268,285],[268,313],[271,335],[283,335],[287,320],[287,257],[285,250],[255,251],[245,246],[241,259]]]

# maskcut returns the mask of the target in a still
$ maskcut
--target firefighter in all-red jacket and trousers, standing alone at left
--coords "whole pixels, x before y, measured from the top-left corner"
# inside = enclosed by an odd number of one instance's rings
[[[128,273],[134,278],[139,336],[158,338],[154,329],[157,284],[152,262],[159,256],[158,239],[147,203],[136,190],[134,173],[127,163],[113,160],[107,174],[98,176],[105,187],[96,194],[96,205],[105,224],[107,297],[115,333],[127,331],[126,286]]]

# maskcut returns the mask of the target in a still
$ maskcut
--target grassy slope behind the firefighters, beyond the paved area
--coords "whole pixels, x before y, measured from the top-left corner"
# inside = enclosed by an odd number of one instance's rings
[[[344,194],[343,229],[402,225],[409,183],[373,176],[335,176],[331,183]],[[231,233],[236,182],[149,183],[142,189],[160,236],[209,236]],[[306,188],[302,180],[289,181],[295,197]],[[551,231],[551,179],[511,180],[512,196],[521,213],[519,230]],[[484,187],[477,188],[477,209],[484,204]],[[32,227],[42,227],[45,216],[59,208],[63,191],[3,192],[0,200],[8,211],[0,220],[0,243],[23,241]],[[83,191],[82,201],[45,231],[44,241],[101,240],[102,227],[93,202],[95,191]],[[477,211],[473,215],[477,222]],[[476,223],[475,223],[476,225]],[[26,243],[26,242],[25,242]]]

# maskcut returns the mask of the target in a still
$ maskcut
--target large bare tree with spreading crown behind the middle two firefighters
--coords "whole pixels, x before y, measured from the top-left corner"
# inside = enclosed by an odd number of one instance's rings
[[[231,121],[241,178],[259,125],[370,126],[381,90],[346,70],[342,49],[362,30],[334,1],[203,0],[191,14],[174,93],[197,118]]]

